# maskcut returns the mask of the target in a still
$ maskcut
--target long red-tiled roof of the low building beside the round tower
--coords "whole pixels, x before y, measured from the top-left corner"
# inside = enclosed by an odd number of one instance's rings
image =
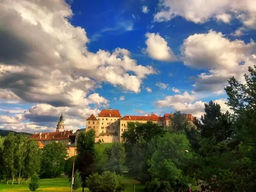
[[[49,133],[37,133],[29,137],[35,141],[52,140],[52,139],[68,139],[72,135],[70,131],[63,132],[49,132]]]

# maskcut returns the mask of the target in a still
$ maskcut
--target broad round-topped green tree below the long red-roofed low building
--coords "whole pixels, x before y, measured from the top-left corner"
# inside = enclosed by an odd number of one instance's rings
[[[58,177],[64,170],[66,147],[62,143],[46,144],[41,152],[41,177]]]

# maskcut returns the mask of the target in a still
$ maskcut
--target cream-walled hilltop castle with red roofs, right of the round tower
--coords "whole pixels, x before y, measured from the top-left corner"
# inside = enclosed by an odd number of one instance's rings
[[[86,131],[94,129],[96,133],[95,141],[99,139],[105,143],[122,141],[122,134],[127,129],[127,123],[130,121],[146,123],[152,121],[159,126],[169,126],[171,114],[164,114],[164,116],[157,116],[151,114],[148,116],[124,116],[122,117],[119,110],[103,109],[97,116],[91,114],[86,119]],[[192,114],[186,115],[188,121],[193,124],[194,117]]]

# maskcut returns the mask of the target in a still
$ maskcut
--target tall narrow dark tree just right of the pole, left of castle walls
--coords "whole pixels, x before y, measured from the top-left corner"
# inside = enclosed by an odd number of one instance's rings
[[[96,171],[95,131],[81,132],[76,142],[76,168],[81,173],[82,189],[86,187],[86,178]]]

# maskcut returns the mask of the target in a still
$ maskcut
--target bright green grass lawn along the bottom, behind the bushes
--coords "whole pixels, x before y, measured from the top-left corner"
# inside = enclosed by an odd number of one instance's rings
[[[136,192],[142,192],[144,189],[143,185],[137,184],[137,182],[129,177],[125,177],[127,182],[127,187],[125,192],[133,192],[134,185]],[[70,183],[66,178],[56,178],[56,179],[40,179],[39,188],[36,190],[37,192],[70,192]],[[29,183],[29,181],[28,181]],[[29,192],[28,183],[18,185],[18,182],[14,182],[14,184],[6,184],[6,182],[0,182],[0,192]],[[81,192],[82,188],[76,190],[76,192]],[[88,190],[85,190],[88,191]]]

